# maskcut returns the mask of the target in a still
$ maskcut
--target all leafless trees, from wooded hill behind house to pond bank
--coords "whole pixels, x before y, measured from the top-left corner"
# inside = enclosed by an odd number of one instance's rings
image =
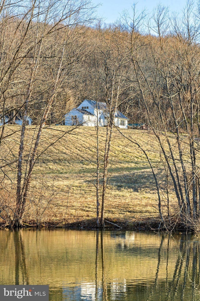
[[[97,226],[105,225],[104,197],[113,114],[119,109],[130,124],[148,124],[158,144],[166,181],[164,194],[160,192],[149,151],[130,138],[128,130],[122,133],[127,143],[133,143],[133,147],[143,152],[151,167],[158,192],[160,225],[172,229],[174,221],[179,221],[188,229],[199,230],[199,34],[200,6],[189,1],[179,14],[170,14],[162,6],[147,14],[133,6],[130,15],[124,13],[120,21],[104,25],[86,0],[1,0],[2,220],[13,228],[23,226],[35,163],[63,136],[73,134],[71,127],[63,126],[57,139],[53,142],[49,139],[48,145],[42,147],[43,129],[62,125],[65,113],[84,99],[93,99],[106,102],[109,108],[102,184],[99,183],[98,127],[96,129]],[[27,125],[27,116],[33,120],[31,126]],[[17,118],[22,118],[18,129],[11,126]],[[34,130],[27,144],[25,137],[30,135],[30,127]],[[10,141],[16,132],[18,156],[12,157]],[[179,208],[175,218],[169,211],[170,185],[173,185]],[[12,206],[5,197],[11,191],[15,200]],[[167,214],[162,210],[163,198]]]

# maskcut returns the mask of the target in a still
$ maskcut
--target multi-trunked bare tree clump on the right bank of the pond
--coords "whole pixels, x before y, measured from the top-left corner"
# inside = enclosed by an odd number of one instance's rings
[[[182,18],[169,18],[167,9],[158,6],[148,22],[149,34],[144,36],[136,30],[138,20],[143,19],[134,13],[131,52],[145,118],[162,150],[182,222],[192,226],[199,192],[195,143],[199,137],[199,21],[190,2]],[[172,144],[173,136],[176,143]]]

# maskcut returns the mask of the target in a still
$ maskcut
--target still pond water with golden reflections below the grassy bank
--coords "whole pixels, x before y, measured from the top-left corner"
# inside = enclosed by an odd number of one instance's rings
[[[49,300],[200,300],[200,238],[134,231],[0,230],[0,284]]]

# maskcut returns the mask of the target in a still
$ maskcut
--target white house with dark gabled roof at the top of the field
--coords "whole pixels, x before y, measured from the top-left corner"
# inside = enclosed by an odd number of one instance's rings
[[[106,103],[85,99],[78,108],[65,114],[65,125],[106,126],[108,108]],[[128,128],[128,118],[118,110],[115,112],[114,124],[122,129]]]

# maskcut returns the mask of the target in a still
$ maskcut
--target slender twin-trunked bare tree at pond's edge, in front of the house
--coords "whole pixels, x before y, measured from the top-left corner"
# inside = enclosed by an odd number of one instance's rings
[[[107,32],[105,29],[103,35],[103,45],[101,55],[104,73],[102,76],[102,66],[99,65],[98,74],[96,72],[96,80],[94,83],[96,91],[96,99],[101,99],[100,82],[103,78],[104,85],[104,98],[107,103],[107,109],[104,109],[104,116],[107,120],[106,126],[106,140],[104,145],[104,158],[103,158],[103,187],[101,195],[101,217],[100,212],[100,190],[99,190],[99,123],[97,123],[97,226],[104,227],[104,208],[105,208],[105,195],[108,185],[108,170],[110,161],[110,148],[112,144],[113,128],[116,123],[116,113],[120,103],[123,101],[123,92],[126,89],[127,73],[128,73],[128,51],[127,43],[123,44],[123,34],[120,32],[120,28],[116,27],[113,32]],[[98,61],[99,63],[99,61]],[[102,99],[101,99],[102,100]],[[98,101],[97,101],[97,112]],[[100,116],[97,117],[100,121]]]

